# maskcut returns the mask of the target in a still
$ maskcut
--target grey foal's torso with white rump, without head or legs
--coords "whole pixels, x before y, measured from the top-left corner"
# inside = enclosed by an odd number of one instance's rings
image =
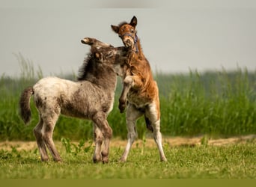
[[[91,119],[91,113],[95,111],[108,114],[114,102],[113,91],[106,92],[86,80],[73,82],[47,77],[40,79],[33,91],[34,102],[41,113],[60,111],[61,114],[84,119]]]

